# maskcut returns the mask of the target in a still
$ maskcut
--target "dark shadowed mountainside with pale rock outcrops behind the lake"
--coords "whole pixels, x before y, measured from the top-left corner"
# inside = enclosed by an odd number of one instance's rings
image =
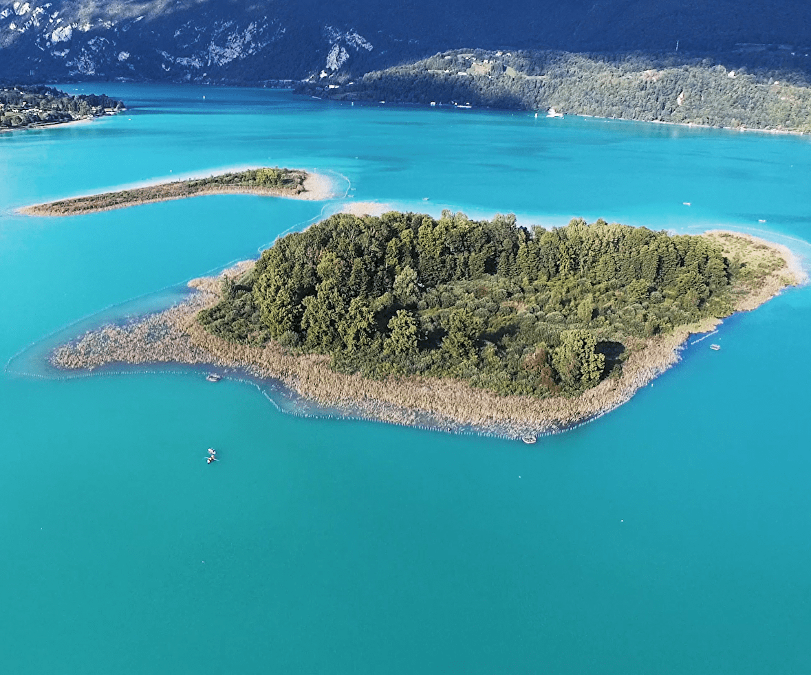
[[[363,73],[443,49],[788,51],[805,0],[0,0],[0,79],[263,83]],[[797,46],[795,46],[797,45]],[[786,53],[788,53],[788,51]]]

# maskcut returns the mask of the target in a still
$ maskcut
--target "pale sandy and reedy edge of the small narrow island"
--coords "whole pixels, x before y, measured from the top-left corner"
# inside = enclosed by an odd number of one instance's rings
[[[278,188],[266,188],[266,187],[259,187],[259,186],[206,186],[203,189],[196,191],[193,194],[165,194],[165,195],[158,195],[156,197],[148,197],[146,199],[140,198],[137,195],[144,190],[149,189],[161,189],[166,188],[169,186],[175,186],[184,182],[191,182],[193,180],[201,180],[208,177],[217,177],[224,175],[225,173],[232,173],[232,172],[222,172],[222,173],[209,173],[204,177],[199,178],[192,178],[192,177],[184,177],[180,179],[172,179],[171,181],[166,181],[165,179],[160,182],[149,182],[144,185],[140,185],[137,187],[130,187],[130,188],[123,188],[119,190],[105,190],[104,192],[97,192],[91,194],[83,194],[76,197],[69,197],[67,199],[59,199],[54,202],[47,202],[41,204],[31,204],[26,207],[20,207],[17,209],[17,213],[23,214],[24,216],[76,216],[76,215],[84,215],[86,213],[100,213],[101,211],[114,211],[119,208],[127,208],[132,206],[139,206],[141,204],[148,204],[148,203],[158,203],[158,202],[169,202],[174,201],[177,199],[193,199],[195,197],[202,197],[205,195],[210,194],[255,194],[262,197],[281,197],[284,199],[303,199],[307,201],[315,201],[321,202],[326,199],[332,199],[336,195],[336,186],[334,185],[333,180],[324,175],[323,173],[311,173],[304,171],[303,169],[290,169],[290,171],[295,173],[302,173],[304,175],[304,183],[303,183],[303,191],[302,192],[293,192],[291,190],[283,190]],[[90,207],[84,209],[77,209],[71,211],[70,209],[62,210],[62,205],[71,202],[81,202],[84,199],[92,199],[97,198],[101,199],[106,195],[117,194],[117,193],[132,193],[133,199],[124,203],[115,203],[110,206],[104,207]]]

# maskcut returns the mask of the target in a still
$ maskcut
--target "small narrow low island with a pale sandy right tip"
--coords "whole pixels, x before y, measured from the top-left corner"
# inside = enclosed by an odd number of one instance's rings
[[[23,207],[19,211],[28,216],[75,216],[170,199],[199,197],[203,194],[260,194],[319,200],[327,199],[330,192],[330,182],[324,176],[299,169],[261,167],[217,173],[204,178],[157,183],[131,190],[60,199],[57,202]]]

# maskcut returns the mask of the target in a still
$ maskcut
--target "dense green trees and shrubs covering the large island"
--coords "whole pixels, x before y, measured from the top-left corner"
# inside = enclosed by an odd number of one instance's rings
[[[730,314],[732,288],[765,271],[705,237],[603,220],[530,232],[514,216],[341,214],[277,241],[199,320],[226,340],[277,340],[374,378],[576,394],[646,338]]]

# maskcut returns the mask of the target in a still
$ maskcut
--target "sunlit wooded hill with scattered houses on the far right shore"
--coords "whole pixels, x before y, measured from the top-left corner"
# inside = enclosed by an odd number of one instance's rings
[[[804,72],[732,70],[672,53],[457,49],[360,78],[315,79],[298,91],[338,100],[554,108],[645,122],[811,131]]]

